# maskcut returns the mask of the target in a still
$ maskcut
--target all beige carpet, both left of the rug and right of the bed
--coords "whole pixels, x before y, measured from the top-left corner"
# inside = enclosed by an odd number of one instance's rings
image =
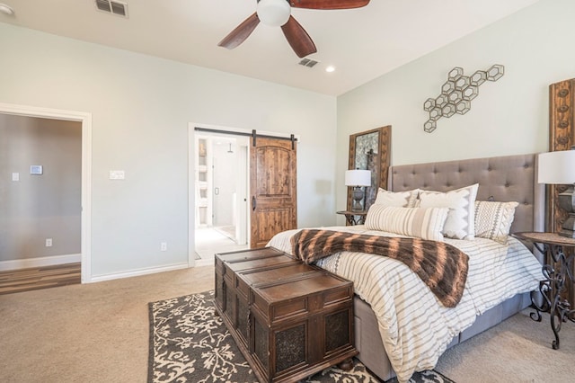
[[[146,382],[148,302],[213,286],[207,266],[0,296],[0,381]],[[436,370],[457,383],[572,381],[575,324],[560,334],[554,351],[548,316],[519,314],[447,351]]]

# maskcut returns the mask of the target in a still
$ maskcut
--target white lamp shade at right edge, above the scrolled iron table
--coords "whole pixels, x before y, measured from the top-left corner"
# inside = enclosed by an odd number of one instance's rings
[[[538,160],[538,183],[575,183],[575,150],[542,153]]]

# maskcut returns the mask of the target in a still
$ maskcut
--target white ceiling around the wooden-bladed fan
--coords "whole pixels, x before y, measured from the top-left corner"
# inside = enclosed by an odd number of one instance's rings
[[[372,0],[351,10],[292,8],[320,62],[298,65],[280,28],[260,24],[236,49],[217,46],[256,0],[123,0],[128,19],[94,0],[0,0],[0,22],[330,95],[438,49],[538,0]],[[337,69],[324,71],[328,65]]]

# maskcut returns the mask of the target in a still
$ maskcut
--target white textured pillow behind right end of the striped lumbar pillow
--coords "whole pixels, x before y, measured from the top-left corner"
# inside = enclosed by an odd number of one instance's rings
[[[449,208],[443,235],[456,239],[475,236],[475,198],[479,183],[454,191],[420,191],[421,208]]]

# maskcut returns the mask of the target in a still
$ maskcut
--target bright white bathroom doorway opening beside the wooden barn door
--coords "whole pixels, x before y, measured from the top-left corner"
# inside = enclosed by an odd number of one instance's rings
[[[194,263],[212,264],[214,254],[249,248],[249,138],[194,135]],[[192,174],[190,174],[190,177]]]

